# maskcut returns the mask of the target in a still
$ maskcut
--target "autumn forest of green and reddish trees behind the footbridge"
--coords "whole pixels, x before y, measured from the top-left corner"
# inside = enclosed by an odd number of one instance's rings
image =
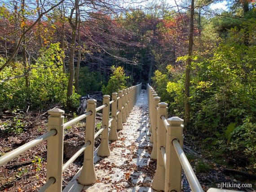
[[[150,83],[188,140],[255,173],[255,1],[216,2],[2,0],[0,111],[17,115],[1,131],[24,131],[22,110],[75,111],[90,92]]]

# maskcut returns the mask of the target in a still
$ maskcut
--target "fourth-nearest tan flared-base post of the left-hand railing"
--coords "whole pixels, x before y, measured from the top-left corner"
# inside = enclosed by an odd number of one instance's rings
[[[110,128],[110,133],[109,133],[109,140],[118,140],[117,132],[116,132],[116,122],[117,122],[117,117],[116,117],[116,111],[117,111],[117,93],[112,93],[112,100],[115,100],[114,103],[112,103],[111,106],[111,116],[113,121],[111,122],[111,128]]]

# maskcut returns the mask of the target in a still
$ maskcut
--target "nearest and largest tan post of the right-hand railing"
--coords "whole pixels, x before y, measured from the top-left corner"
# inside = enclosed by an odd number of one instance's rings
[[[166,172],[165,191],[181,192],[181,163],[172,145],[172,140],[177,139],[183,148],[183,119],[178,117],[168,118],[170,124],[166,137]]]

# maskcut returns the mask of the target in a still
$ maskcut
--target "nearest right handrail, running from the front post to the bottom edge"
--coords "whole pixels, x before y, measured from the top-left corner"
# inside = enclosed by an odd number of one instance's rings
[[[179,144],[179,141],[174,139],[174,140],[172,140],[172,144],[175,148],[177,156],[179,157],[181,166],[185,172],[188,182],[190,183],[190,188],[191,188],[192,192],[203,192],[203,189],[202,189],[196,175],[194,174],[194,171],[193,171],[187,157],[185,156],[185,153],[182,150],[182,148]]]

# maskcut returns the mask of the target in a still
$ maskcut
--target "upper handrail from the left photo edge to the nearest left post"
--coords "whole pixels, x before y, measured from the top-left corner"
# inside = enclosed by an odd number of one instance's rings
[[[22,153],[35,147],[36,145],[42,143],[47,138],[49,138],[53,135],[56,135],[56,134],[57,134],[57,131],[55,129],[52,129],[51,131],[48,131],[44,135],[41,135],[41,136],[37,137],[36,139],[31,140],[30,142],[23,144],[22,146],[14,149],[13,151],[3,155],[2,157],[0,157],[0,166],[4,165],[5,163],[11,161],[13,158],[21,155]]]

